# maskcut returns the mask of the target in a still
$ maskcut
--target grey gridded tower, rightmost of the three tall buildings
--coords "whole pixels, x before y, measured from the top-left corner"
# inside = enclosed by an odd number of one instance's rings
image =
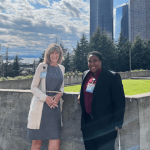
[[[150,39],[150,0],[129,0],[129,40]]]

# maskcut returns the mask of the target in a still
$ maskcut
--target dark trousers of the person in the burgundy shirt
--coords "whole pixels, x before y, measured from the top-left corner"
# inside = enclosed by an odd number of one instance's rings
[[[86,127],[82,130],[83,140],[86,150],[115,150],[115,139],[117,131],[115,130],[97,130],[96,121],[90,116],[86,118]]]

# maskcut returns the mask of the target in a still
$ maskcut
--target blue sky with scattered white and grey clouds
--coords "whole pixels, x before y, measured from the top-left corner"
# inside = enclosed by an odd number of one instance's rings
[[[114,10],[128,0],[114,0]],[[90,0],[0,0],[0,54],[39,57],[56,38],[72,50],[89,36]],[[32,56],[31,56],[32,55]]]

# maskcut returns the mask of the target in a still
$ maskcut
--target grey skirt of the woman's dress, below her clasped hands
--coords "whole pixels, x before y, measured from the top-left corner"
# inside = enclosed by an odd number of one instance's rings
[[[29,140],[60,139],[60,130],[60,102],[52,109],[44,102],[40,129],[28,129],[27,136]]]

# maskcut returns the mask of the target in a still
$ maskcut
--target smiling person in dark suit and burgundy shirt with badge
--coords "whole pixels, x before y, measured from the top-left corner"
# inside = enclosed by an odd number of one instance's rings
[[[118,128],[122,127],[125,96],[118,73],[102,68],[97,51],[87,56],[89,70],[83,73],[78,102],[81,104],[81,131],[86,150],[114,150]]]

